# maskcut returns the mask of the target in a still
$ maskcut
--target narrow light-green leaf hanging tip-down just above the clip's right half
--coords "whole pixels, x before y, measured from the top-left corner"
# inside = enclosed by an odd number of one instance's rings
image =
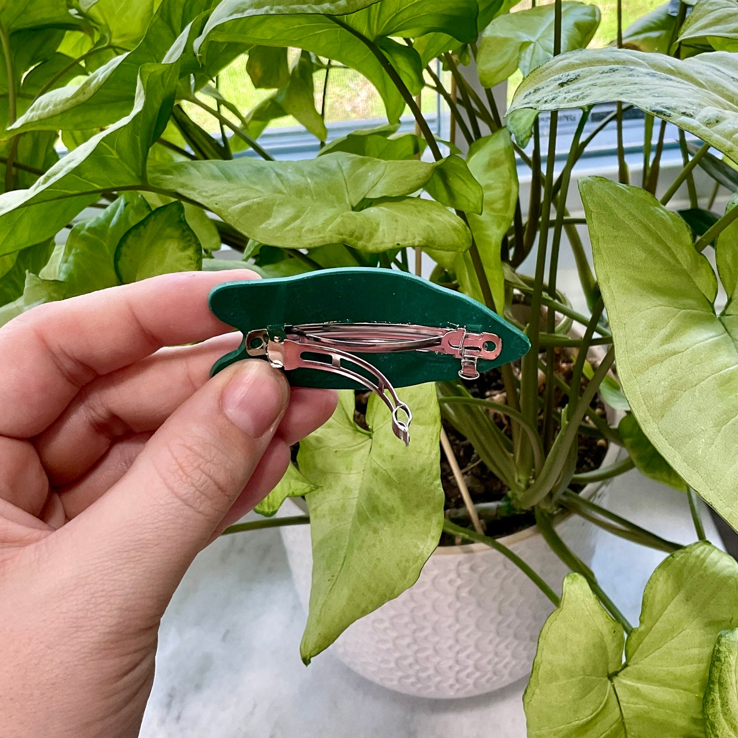
[[[515,214],[518,192],[515,152],[507,128],[500,128],[492,136],[472,143],[466,163],[484,192],[481,215],[469,213],[466,218],[492,288],[494,306],[502,314],[505,306],[505,275],[500,248]],[[456,257],[455,272],[461,292],[483,303],[469,253]]]

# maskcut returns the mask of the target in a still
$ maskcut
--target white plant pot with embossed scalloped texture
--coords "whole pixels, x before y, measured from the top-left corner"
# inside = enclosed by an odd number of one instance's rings
[[[614,463],[610,445],[602,462]],[[604,484],[582,495],[601,500]],[[303,514],[286,500],[280,514]],[[596,528],[562,516],[556,531],[582,561],[594,552]],[[281,528],[297,593],[308,607],[312,555],[309,525]],[[561,591],[568,568],[537,528],[500,539],[546,582]],[[482,544],[446,546],[430,556],[418,581],[379,610],[356,621],[331,653],[368,679],[417,697],[472,697],[530,673],[538,633],[553,606],[523,572]]]

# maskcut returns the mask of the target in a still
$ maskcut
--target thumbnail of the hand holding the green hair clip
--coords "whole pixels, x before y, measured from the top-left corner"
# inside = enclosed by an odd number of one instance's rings
[[[223,390],[221,407],[232,424],[259,438],[280,417],[288,397],[287,383],[277,370],[253,359],[238,366]]]

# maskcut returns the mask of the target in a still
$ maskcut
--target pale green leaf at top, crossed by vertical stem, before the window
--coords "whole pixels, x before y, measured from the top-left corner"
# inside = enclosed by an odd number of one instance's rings
[[[562,52],[584,49],[600,23],[596,5],[565,0],[561,3]],[[527,75],[554,57],[554,5],[494,18],[482,35],[477,56],[479,80],[484,87],[504,82],[517,69]]]

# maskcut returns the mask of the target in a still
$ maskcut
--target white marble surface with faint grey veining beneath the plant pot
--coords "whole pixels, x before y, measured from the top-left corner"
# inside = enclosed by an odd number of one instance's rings
[[[608,507],[692,542],[686,497],[628,472]],[[708,537],[719,541],[708,514]],[[664,554],[599,531],[593,570],[632,622]],[[145,738],[523,738],[525,679],[466,700],[396,694],[355,675],[330,649],[303,666],[305,613],[277,530],[220,539],[198,556],[162,621]]]

